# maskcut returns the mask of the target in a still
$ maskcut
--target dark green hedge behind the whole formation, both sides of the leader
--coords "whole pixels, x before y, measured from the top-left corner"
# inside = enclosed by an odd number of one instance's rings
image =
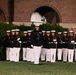
[[[3,43],[3,40],[5,38],[5,35],[6,35],[6,30],[11,30],[11,29],[20,29],[20,36],[22,37],[23,36],[23,31],[27,31],[27,30],[34,30],[35,29],[35,26],[34,25],[31,25],[31,26],[24,26],[24,25],[20,25],[20,26],[17,26],[17,25],[14,25],[14,24],[6,24],[6,23],[3,23],[1,22],[0,23],[0,59],[5,59],[5,46],[4,46],[4,43]],[[53,24],[50,24],[50,23],[47,23],[47,24],[44,24],[44,25],[41,25],[40,26],[40,30],[56,30],[56,32],[63,32],[63,31],[68,31],[67,28],[63,28],[59,25],[53,25]],[[21,57],[22,57],[22,52],[21,52]],[[20,58],[21,58],[20,57]]]

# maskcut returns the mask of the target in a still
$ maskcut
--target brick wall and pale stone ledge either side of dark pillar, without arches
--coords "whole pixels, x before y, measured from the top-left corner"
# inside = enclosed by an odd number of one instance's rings
[[[63,27],[76,27],[76,0],[14,0],[15,24],[30,25],[32,13],[41,6],[53,8],[60,17]],[[0,9],[9,21],[9,0],[0,0]]]

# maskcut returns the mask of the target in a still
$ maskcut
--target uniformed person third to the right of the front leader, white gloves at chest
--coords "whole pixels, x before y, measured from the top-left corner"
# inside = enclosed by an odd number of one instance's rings
[[[51,31],[51,62],[56,61],[57,38],[55,33],[55,30]]]

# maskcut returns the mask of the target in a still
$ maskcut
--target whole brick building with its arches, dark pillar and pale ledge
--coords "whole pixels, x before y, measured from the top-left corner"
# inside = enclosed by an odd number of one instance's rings
[[[0,21],[30,25],[34,12],[47,22],[76,29],[75,0],[0,0]]]

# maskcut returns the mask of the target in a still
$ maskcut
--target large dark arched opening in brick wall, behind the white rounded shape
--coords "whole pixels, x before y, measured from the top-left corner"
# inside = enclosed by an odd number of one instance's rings
[[[58,23],[60,23],[60,17],[59,17],[58,12],[56,10],[54,10],[53,8],[51,8],[51,7],[42,6],[42,7],[37,8],[33,12],[33,14],[35,12],[36,13],[39,13],[42,16],[42,19],[41,20],[42,21],[45,21],[45,23],[46,22],[52,23],[52,24],[58,24]],[[32,18],[31,18],[31,21],[32,21]]]

